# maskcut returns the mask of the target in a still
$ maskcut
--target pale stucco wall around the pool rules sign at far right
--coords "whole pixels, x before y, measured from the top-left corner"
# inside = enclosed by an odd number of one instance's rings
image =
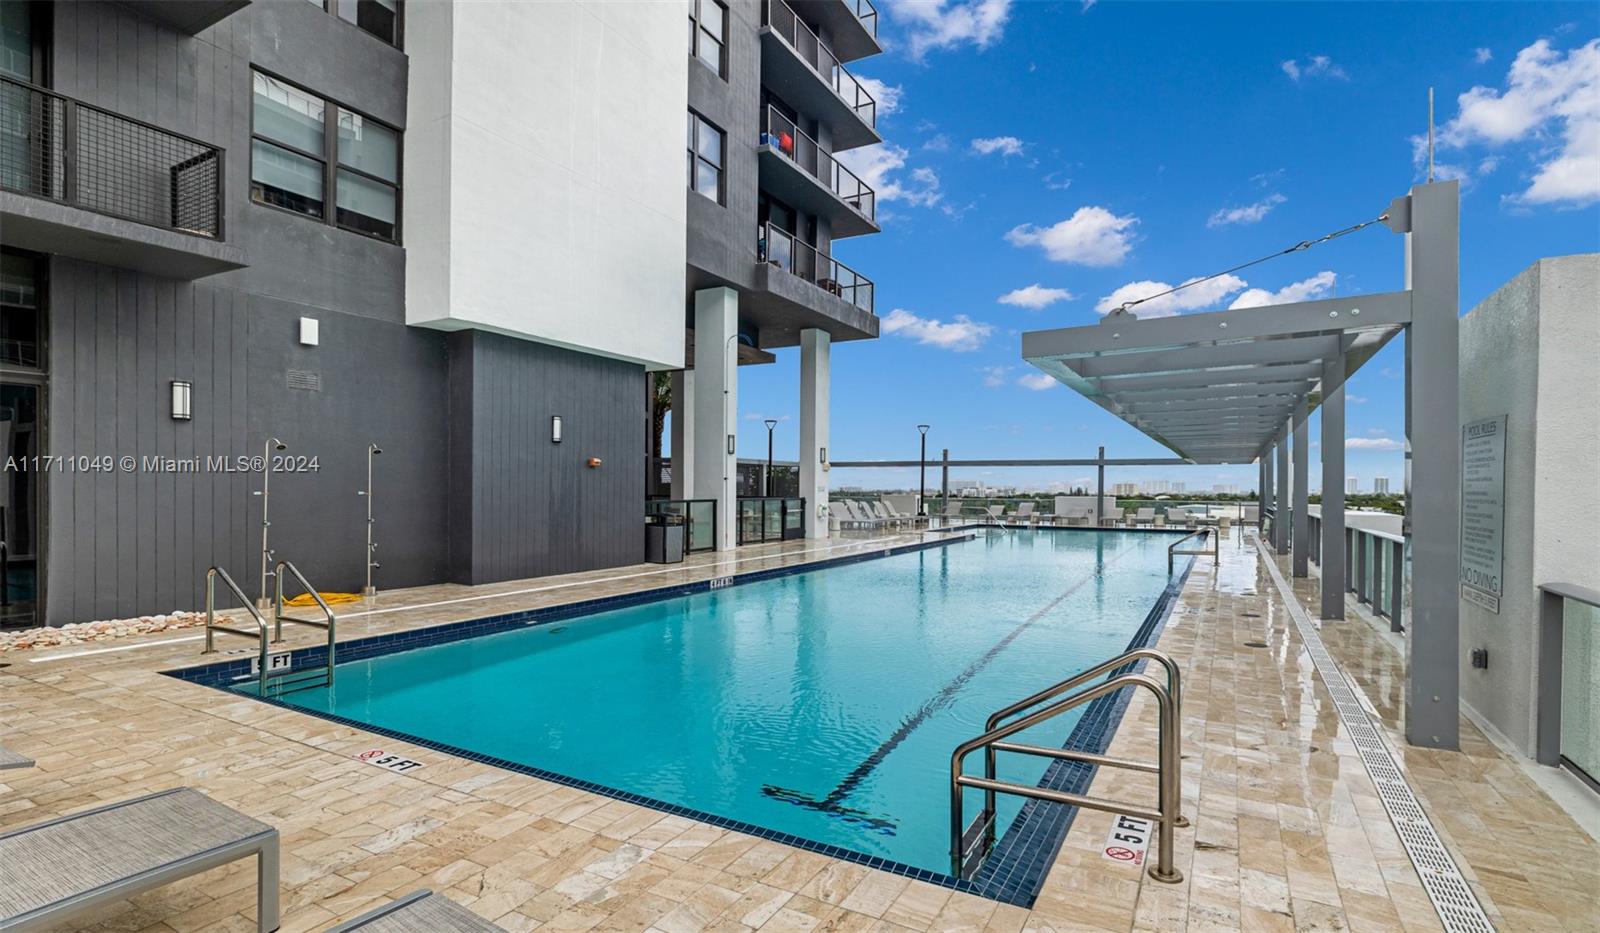
[[[1541,259],[1461,320],[1461,421],[1507,416],[1501,611],[1461,602],[1461,699],[1528,755],[1538,584],[1600,586],[1597,411],[1600,254]]]

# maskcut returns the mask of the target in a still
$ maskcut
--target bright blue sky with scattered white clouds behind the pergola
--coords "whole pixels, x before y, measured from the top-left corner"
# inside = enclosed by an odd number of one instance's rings
[[[1422,178],[1429,85],[1440,173],[1464,184],[1462,312],[1542,256],[1600,250],[1600,5],[875,2],[886,51],[851,70],[886,110],[885,144],[846,158],[878,190],[883,232],[835,256],[877,282],[885,333],[834,350],[832,459],[914,458],[918,422],[952,458],[1166,454],[1030,378],[1021,331],[1093,323],[1107,296],[1378,216]],[[1402,238],[1378,226],[1160,310],[1394,290],[1402,275]],[[1347,389],[1362,488],[1398,487],[1402,366],[1397,339]],[[741,456],[765,454],[763,418],[781,419],[778,456],[795,456],[798,350],[739,378]],[[1090,474],[962,471],[1029,487]]]

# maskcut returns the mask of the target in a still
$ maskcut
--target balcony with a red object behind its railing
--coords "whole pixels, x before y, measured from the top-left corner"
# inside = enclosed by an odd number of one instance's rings
[[[768,106],[757,147],[762,189],[805,213],[827,218],[835,240],[877,234],[877,195],[853,171]]]

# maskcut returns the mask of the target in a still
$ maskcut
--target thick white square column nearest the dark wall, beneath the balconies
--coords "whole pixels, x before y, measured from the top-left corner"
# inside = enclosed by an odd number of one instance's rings
[[[738,546],[739,464],[739,293],[694,293],[694,458],[696,499],[717,501],[717,551]]]

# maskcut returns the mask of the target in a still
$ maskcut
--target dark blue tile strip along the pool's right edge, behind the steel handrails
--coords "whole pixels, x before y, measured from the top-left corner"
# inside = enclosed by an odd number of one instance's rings
[[[1182,573],[1168,581],[1166,589],[1162,591],[1155,605],[1150,607],[1144,623],[1139,624],[1133,639],[1128,640],[1126,651],[1155,647],[1166,629],[1166,621],[1173,615],[1178,594],[1189,583],[1189,571],[1194,570],[1195,560],[1195,557],[1190,557]],[[1106,677],[1117,677],[1147,664],[1150,663],[1136,661],[1125,664]],[[1131,690],[1118,690],[1114,695],[1091,701],[1085,707],[1083,717],[1072,727],[1072,733],[1062,743],[1062,747],[1106,754],[1131,701]],[[1045,775],[1038,779],[1037,786],[1067,794],[1086,794],[1098,770],[1098,767],[1083,762],[1056,760],[1045,768]],[[1000,842],[995,843],[994,853],[978,869],[971,882],[966,882],[971,887],[963,890],[1006,904],[1032,907],[1040,888],[1045,885],[1050,867],[1056,863],[1056,855],[1072,831],[1077,815],[1077,807],[1029,800],[1022,805],[1016,819],[1011,821],[1005,835],[1000,837]]]

